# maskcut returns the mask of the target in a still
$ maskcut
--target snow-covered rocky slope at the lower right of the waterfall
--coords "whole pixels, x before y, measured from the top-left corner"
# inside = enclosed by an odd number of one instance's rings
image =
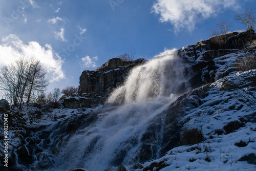
[[[254,164],[239,161],[244,156],[256,154],[256,123],[247,122],[238,130],[218,135],[224,125],[239,118],[255,116],[255,111],[238,101],[232,91],[220,91],[223,79],[211,84],[203,104],[186,112],[183,120],[189,119],[185,127],[202,128],[205,140],[191,146],[178,146],[167,152],[166,156],[144,163],[144,168],[151,168],[152,163],[168,165],[164,170],[256,170]],[[252,156],[249,156],[252,159]],[[255,161],[254,161],[255,162]],[[155,164],[154,170],[159,170]],[[159,164],[158,164],[159,165]],[[158,169],[157,169],[158,168]],[[141,169],[137,169],[141,170]]]

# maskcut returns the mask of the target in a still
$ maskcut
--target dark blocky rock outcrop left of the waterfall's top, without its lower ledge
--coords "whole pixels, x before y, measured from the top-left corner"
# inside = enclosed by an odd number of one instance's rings
[[[145,59],[123,61],[120,58],[113,58],[105,62],[98,71],[83,71],[78,92],[79,94],[96,93],[99,96],[108,96],[124,81],[133,67],[144,62]]]

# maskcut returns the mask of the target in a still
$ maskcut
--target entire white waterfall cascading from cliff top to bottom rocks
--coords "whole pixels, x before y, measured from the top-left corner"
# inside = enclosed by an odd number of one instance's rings
[[[159,157],[164,118],[158,114],[188,90],[185,67],[177,50],[166,50],[133,69],[97,112],[97,120],[61,147],[54,167],[101,171]]]

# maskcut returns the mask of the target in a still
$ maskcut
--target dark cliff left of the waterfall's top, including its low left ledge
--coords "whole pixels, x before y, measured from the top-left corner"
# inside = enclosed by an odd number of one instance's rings
[[[123,61],[113,58],[105,62],[97,71],[83,71],[79,80],[78,94],[62,99],[64,108],[93,108],[103,104],[109,94],[123,83],[129,71],[142,63],[145,59]]]

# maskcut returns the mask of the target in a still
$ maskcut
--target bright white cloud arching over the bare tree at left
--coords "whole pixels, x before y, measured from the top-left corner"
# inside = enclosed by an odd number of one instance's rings
[[[62,63],[64,61],[54,52],[51,45],[46,44],[45,46],[40,46],[36,41],[30,41],[28,44],[24,44],[14,34],[3,38],[2,42],[3,44],[0,45],[0,67],[9,65],[9,63],[14,62],[21,56],[34,56],[44,65],[48,73],[47,78],[51,82],[65,78],[62,71]]]

